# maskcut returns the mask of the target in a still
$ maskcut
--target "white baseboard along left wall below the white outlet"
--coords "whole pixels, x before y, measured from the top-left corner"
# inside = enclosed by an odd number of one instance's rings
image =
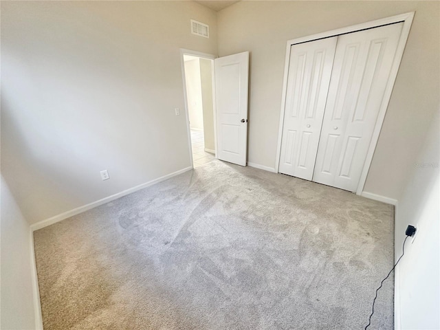
[[[34,223],[33,225],[31,225],[30,228],[31,228],[32,232],[34,232],[35,230],[39,230],[41,228],[45,228],[48,225],[52,225],[53,223],[56,223],[58,221],[63,221],[64,219],[67,219],[69,217],[73,217],[76,214],[80,214],[80,213],[83,213],[83,212],[85,212],[87,210],[90,210],[92,208],[96,208],[96,206],[100,206],[102,204],[109,203],[109,201],[114,201],[115,199],[118,199],[118,198],[123,197],[125,195],[129,195],[132,192],[136,192],[137,190],[141,190],[143,188],[146,188],[146,187],[149,187],[149,186],[153,186],[153,184],[157,184],[157,183],[159,183],[161,181],[165,181],[166,179],[170,179],[170,177],[175,177],[176,175],[184,173],[184,172],[186,172],[188,170],[192,170],[192,166],[184,168],[182,170],[177,170],[174,173],[170,173],[168,175],[164,175],[163,177],[159,177],[157,179],[148,181],[148,182],[146,182],[144,184],[140,184],[139,186],[135,186],[133,188],[129,188],[129,189],[123,190],[123,191],[118,192],[118,193],[116,193],[114,195],[111,195],[109,197],[104,197],[102,199],[99,199],[98,201],[94,201],[94,202],[88,203],[88,204],[86,204],[84,206],[80,206],[79,208],[74,208],[73,210],[69,210],[67,212],[63,212],[63,213],[58,214],[58,215],[56,215],[54,217],[51,217],[49,219],[45,219],[45,220],[39,221],[39,222]]]

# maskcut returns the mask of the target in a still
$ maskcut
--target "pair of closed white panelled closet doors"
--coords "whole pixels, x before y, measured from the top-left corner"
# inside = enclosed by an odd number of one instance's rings
[[[403,25],[291,46],[278,172],[356,191]]]

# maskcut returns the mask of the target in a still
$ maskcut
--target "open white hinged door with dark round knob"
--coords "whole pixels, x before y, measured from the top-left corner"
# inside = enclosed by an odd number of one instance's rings
[[[214,60],[217,156],[246,166],[249,52]]]

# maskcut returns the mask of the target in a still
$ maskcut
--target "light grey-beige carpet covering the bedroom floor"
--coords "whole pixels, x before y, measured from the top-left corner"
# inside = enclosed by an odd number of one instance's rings
[[[363,329],[393,212],[216,160],[36,231],[44,326]],[[369,329],[393,329],[393,278]]]

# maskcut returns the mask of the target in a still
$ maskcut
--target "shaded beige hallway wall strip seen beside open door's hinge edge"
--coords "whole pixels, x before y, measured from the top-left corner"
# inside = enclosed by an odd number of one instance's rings
[[[203,103],[203,135],[205,148],[215,150],[214,103],[212,102],[212,61],[200,58],[201,100]]]

